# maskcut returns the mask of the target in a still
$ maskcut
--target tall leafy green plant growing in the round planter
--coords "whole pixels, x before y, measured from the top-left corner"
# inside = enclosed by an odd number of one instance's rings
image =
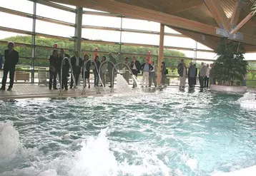
[[[222,38],[217,50],[215,69],[217,82],[222,85],[239,85],[247,73],[247,61],[244,61],[245,49],[242,43]]]

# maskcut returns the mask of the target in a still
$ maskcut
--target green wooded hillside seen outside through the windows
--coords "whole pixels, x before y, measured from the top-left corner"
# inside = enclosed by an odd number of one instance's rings
[[[16,43],[26,43],[31,44],[32,37],[31,36],[12,36],[9,38],[4,38],[4,41],[14,41]],[[49,61],[46,59],[51,56],[52,48],[42,48],[39,46],[54,46],[54,43],[58,44],[59,48],[68,48],[70,51],[67,51],[67,53],[70,56],[73,56],[73,49],[74,49],[74,41],[61,41],[59,39],[55,38],[42,38],[36,36],[36,58],[42,58],[37,59],[35,61],[35,66],[49,66]],[[7,43],[6,43],[7,44]],[[113,52],[118,53],[119,52],[119,45],[108,45],[108,44],[95,44],[95,43],[82,43],[82,51],[94,51],[95,48],[99,48],[99,51],[106,51],[106,52]],[[6,45],[0,45],[0,53],[3,53],[3,51],[6,49]],[[31,57],[31,48],[28,46],[16,46],[15,49],[19,51],[20,56],[24,57]],[[127,53],[127,56],[130,58],[130,61],[132,61],[132,56],[129,56],[129,53],[135,53],[135,54],[147,54],[149,51],[152,54],[152,61],[155,61],[157,63],[158,61],[158,48],[149,48],[149,47],[142,47],[142,46],[122,46],[121,47],[122,53]],[[85,52],[84,52],[85,53]],[[84,54],[82,53],[82,54]],[[91,54],[92,56],[92,54]],[[100,56],[107,56],[107,53],[100,53]],[[180,61],[179,57],[186,57],[184,53],[181,53],[179,51],[173,51],[170,49],[164,49],[164,56],[173,56],[173,58],[164,58],[164,62],[166,63],[166,66],[177,66],[177,64]],[[124,61],[124,58],[126,56],[119,56],[114,55],[114,58],[117,59],[117,62]],[[175,58],[177,57],[177,58]],[[143,63],[146,60],[146,56],[137,56],[137,60]],[[186,61],[186,63],[189,63],[189,60]],[[20,59],[19,64],[21,65],[28,65],[31,64],[30,59]]]

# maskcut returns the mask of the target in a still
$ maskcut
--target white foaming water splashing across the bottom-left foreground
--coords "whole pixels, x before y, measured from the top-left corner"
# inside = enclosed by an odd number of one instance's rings
[[[14,129],[12,123],[1,123],[0,127],[0,158],[2,160],[5,158],[4,161],[9,162],[10,165],[9,169],[0,170],[1,176],[172,175],[172,170],[164,165],[164,162],[159,160],[157,155],[151,155],[150,153],[138,152],[139,157],[143,158],[141,165],[131,165],[127,160],[118,162],[114,152],[109,149],[108,129],[101,130],[97,138],[90,137],[84,140],[80,144],[82,145],[81,150],[66,152],[66,154],[63,152],[64,155],[51,160],[49,156],[41,155],[36,150],[24,149],[19,142],[19,133]],[[21,151],[19,151],[20,147]],[[29,152],[32,152],[32,154]],[[32,160],[30,160],[31,155],[34,155]],[[22,160],[16,162],[19,165],[13,163],[14,157],[22,158]],[[46,160],[46,158],[48,159]],[[24,160],[29,160],[29,167],[20,167]]]

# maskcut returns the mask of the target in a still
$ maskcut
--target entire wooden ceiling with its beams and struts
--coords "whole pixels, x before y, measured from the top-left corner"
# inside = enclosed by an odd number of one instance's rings
[[[242,33],[247,52],[256,52],[256,19],[250,0],[51,0],[62,4],[123,14],[125,17],[162,23],[212,49],[220,36]],[[246,18],[246,19],[245,19]]]

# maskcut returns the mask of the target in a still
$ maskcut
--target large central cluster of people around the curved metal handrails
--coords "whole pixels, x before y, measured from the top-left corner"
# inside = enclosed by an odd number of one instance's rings
[[[88,83],[88,88],[90,88],[90,83],[89,83],[90,70],[92,70],[94,74],[94,87],[106,86],[105,76],[108,71],[109,82],[110,82],[109,88],[112,88],[113,68],[114,68],[114,65],[117,64],[117,61],[112,56],[112,53],[109,53],[108,56],[109,56],[109,60],[108,60],[109,62],[106,62],[107,58],[105,56],[102,56],[102,60],[100,61],[100,58],[98,55],[94,56],[94,58],[91,61],[89,61],[88,54],[85,54],[84,58],[82,59],[79,57],[79,51],[75,51],[74,56],[70,58],[72,71],[74,75],[74,78],[73,76],[71,76],[70,88],[77,88],[79,76],[81,73],[82,73],[82,78],[84,78],[86,81],[85,86],[87,86],[87,83]],[[63,60],[64,57],[69,58],[69,55],[64,53],[64,49],[61,49],[60,53],[58,53],[57,50],[54,50],[52,55],[49,58],[49,72],[50,72],[49,89],[50,90],[51,88],[58,89],[56,88],[56,77],[57,75],[59,75],[59,78],[61,78],[61,61]],[[137,61],[137,58],[134,56],[132,58],[132,62],[129,62],[129,57],[126,57],[124,59],[124,63],[126,63],[126,65],[130,67],[130,69],[132,70],[132,73],[136,77],[142,71],[142,87],[144,86],[151,87],[152,83],[154,83],[154,86],[157,87],[154,61],[152,61],[152,63],[149,63],[149,59],[146,59],[146,61],[141,64],[139,63],[139,61]],[[125,68],[126,66],[123,66],[123,67]],[[164,62],[162,62],[161,68],[162,68],[161,69],[162,84],[164,84],[164,79],[166,78],[166,74],[167,74],[167,68]],[[66,60],[64,60],[64,64],[62,67],[62,88],[65,88],[65,90],[68,90],[67,80],[69,77],[69,69],[70,69],[69,63]],[[125,79],[129,83],[129,76],[128,78],[125,78]],[[137,87],[137,84],[134,81],[133,88],[135,87]]]

